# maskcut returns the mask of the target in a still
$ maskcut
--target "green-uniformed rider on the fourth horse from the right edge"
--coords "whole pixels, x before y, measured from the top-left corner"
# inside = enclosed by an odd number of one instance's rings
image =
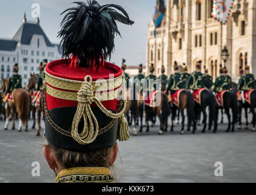
[[[171,91],[171,94],[175,93],[177,90],[185,88],[185,83],[182,79],[182,74],[179,73],[179,66],[177,62],[174,62],[174,74],[169,77],[168,83],[166,84],[166,90]]]

